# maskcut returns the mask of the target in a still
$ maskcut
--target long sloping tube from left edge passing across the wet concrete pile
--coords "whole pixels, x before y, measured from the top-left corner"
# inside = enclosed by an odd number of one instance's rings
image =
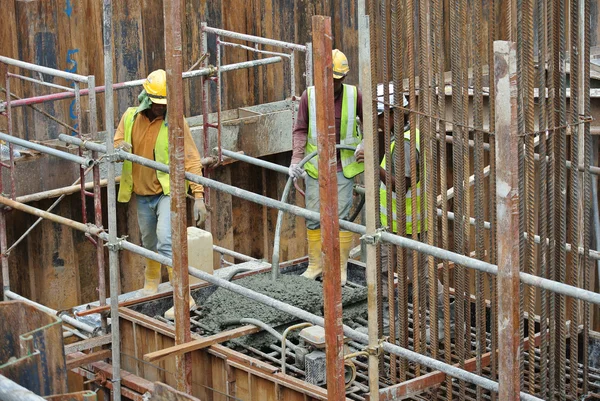
[[[17,210],[21,210],[26,213],[31,213],[36,216],[43,215],[48,220],[51,220],[51,221],[54,221],[57,223],[61,223],[61,224],[64,224],[65,220],[69,220],[64,217],[57,216],[53,213],[48,213],[46,211],[36,209],[34,207],[31,207],[31,206],[28,206],[25,204],[15,202],[11,199],[8,199],[8,198],[2,197],[2,196],[0,196],[0,203],[4,204],[6,206],[12,207],[14,209],[17,209]],[[93,235],[97,236],[98,238],[102,239],[103,241],[108,242],[108,234],[92,224],[83,224],[83,223],[79,223],[79,222],[70,220],[69,226],[72,228],[75,228],[77,230],[93,234]],[[170,258],[161,256],[156,252],[150,251],[142,246],[132,244],[123,239],[119,239],[116,244],[112,244],[112,245],[118,246],[119,248],[124,249],[126,251],[134,252],[145,258],[155,260],[165,266],[173,265],[173,261]],[[274,299],[267,295],[250,290],[246,287],[242,287],[241,285],[229,282],[222,278],[213,276],[210,273],[206,273],[202,270],[198,270],[191,266],[188,267],[188,272],[190,275],[192,275],[196,278],[199,278],[201,280],[204,280],[206,282],[214,284],[218,287],[225,288],[229,291],[240,294],[248,299],[259,302],[263,305],[267,305],[274,309],[280,310],[282,312],[289,313],[290,315],[293,315],[303,321],[306,321],[306,322],[309,322],[309,323],[312,323],[312,324],[315,324],[315,325],[318,325],[321,327],[324,327],[324,325],[325,325],[325,321],[322,317],[314,315],[310,312],[307,312],[307,311],[300,309],[298,307],[295,307],[293,305],[286,304],[277,299]],[[366,334],[360,333],[348,326],[344,326],[344,334],[355,341],[361,342],[363,344],[368,343],[368,336]],[[386,352],[406,358],[409,361],[427,366],[434,370],[439,370],[450,376],[456,377],[461,380],[465,380],[465,381],[475,384],[477,386],[481,386],[482,388],[485,388],[486,390],[490,390],[490,391],[494,391],[494,392],[498,391],[498,383],[493,380],[487,379],[482,376],[478,376],[474,373],[468,372],[466,370],[460,369],[460,368],[452,366],[452,365],[448,365],[444,362],[438,361],[436,359],[430,358],[425,355],[421,355],[417,352],[411,351],[406,348],[402,348],[398,345],[394,345],[389,342],[383,342],[381,344],[381,346]],[[529,395],[527,393],[523,393],[523,392],[521,392],[521,399],[522,400],[531,400],[531,401],[541,401],[539,398]]]

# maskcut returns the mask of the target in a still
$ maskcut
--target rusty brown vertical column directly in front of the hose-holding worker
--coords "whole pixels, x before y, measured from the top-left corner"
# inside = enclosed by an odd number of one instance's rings
[[[342,331],[331,18],[315,15],[312,17],[312,27],[323,249],[327,399],[335,401],[345,400],[346,393],[344,390],[344,333]]]

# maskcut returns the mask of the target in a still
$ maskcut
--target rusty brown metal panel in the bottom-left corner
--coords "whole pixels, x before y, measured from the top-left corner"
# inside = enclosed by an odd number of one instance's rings
[[[40,395],[64,393],[60,318],[19,301],[0,303],[0,373]]]

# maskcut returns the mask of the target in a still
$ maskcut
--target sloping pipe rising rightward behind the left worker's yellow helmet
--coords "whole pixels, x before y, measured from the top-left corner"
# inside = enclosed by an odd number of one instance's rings
[[[0,56],[0,58],[1,58],[1,56]],[[241,63],[235,63],[235,64],[229,64],[229,65],[222,66],[221,72],[223,73],[223,72],[229,72],[229,71],[236,71],[236,70],[240,70],[243,68],[258,67],[261,65],[268,65],[268,64],[278,63],[281,61],[282,61],[281,57],[268,57],[268,58],[259,59],[259,60],[244,61]],[[212,75],[215,72],[216,72],[215,67],[207,67],[207,68],[201,68],[201,69],[195,70],[195,71],[184,72],[182,74],[182,77],[184,79],[188,79],[188,78],[199,77],[199,76],[204,76],[204,75]],[[86,78],[86,80],[87,80],[87,78]],[[144,79],[136,79],[134,81],[119,82],[119,83],[113,84],[112,89],[119,90],[119,89],[126,89],[126,88],[133,88],[136,86],[141,86],[145,80],[146,79],[144,78]],[[102,93],[102,92],[106,91],[106,86],[105,85],[96,86],[94,88],[94,90],[96,93]],[[89,89],[82,89],[79,92],[79,94],[80,94],[80,96],[87,96],[87,95],[89,95],[89,92],[90,92]],[[72,97],[75,97],[74,92],[53,93],[50,95],[41,95],[41,96],[34,96],[34,97],[30,97],[30,98],[15,100],[15,101],[11,102],[11,106],[12,107],[28,106],[28,105],[32,105],[32,104],[51,102],[51,101],[55,101],[55,100],[70,99]],[[4,107],[6,107],[6,102],[0,102],[0,110]]]

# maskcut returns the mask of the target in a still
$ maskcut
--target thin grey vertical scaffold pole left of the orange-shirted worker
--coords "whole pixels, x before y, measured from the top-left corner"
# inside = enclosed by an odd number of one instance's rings
[[[106,126],[106,151],[114,153],[115,102],[113,97],[113,37],[112,37],[112,0],[104,0],[102,8],[103,51],[104,51],[104,117]],[[117,244],[117,189],[115,184],[115,164],[108,163],[108,184],[106,208],[108,216],[108,264],[110,277],[110,333],[112,340],[113,401],[121,401],[121,335],[119,333],[119,291],[121,272],[119,270],[119,250]]]

